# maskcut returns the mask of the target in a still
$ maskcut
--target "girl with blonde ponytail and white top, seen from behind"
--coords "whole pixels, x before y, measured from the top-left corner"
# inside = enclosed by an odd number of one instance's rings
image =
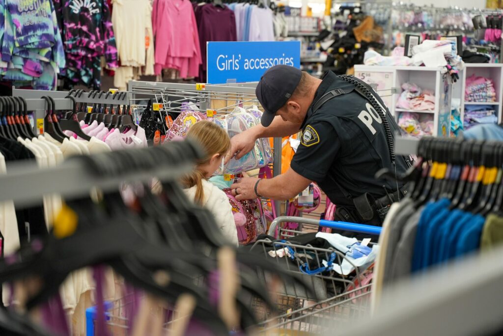
[[[238,246],[236,224],[227,195],[207,180],[220,167],[230,147],[229,135],[212,122],[200,121],[190,128],[186,138],[197,142],[206,151],[206,156],[197,162],[192,173],[182,178],[184,191],[196,204],[213,214],[223,235]]]

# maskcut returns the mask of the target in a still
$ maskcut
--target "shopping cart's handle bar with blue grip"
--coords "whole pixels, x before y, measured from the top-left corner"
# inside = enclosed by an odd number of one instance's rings
[[[271,226],[269,227],[269,231],[267,232],[270,236],[274,236],[276,231],[276,227],[280,223],[284,222],[294,222],[300,224],[311,224],[311,225],[319,225],[323,227],[329,227],[332,229],[338,230],[347,230],[352,232],[359,233],[367,233],[367,234],[381,234],[381,227],[374,225],[365,225],[365,224],[357,224],[357,223],[348,223],[348,222],[340,222],[340,221],[331,221],[324,219],[311,219],[304,217],[293,217],[293,216],[281,216],[273,220]]]

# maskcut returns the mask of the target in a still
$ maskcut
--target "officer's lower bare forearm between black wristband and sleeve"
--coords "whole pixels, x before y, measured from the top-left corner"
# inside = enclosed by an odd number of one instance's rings
[[[259,195],[277,201],[289,200],[309,186],[308,180],[295,173],[291,168],[285,174],[273,179],[264,179],[259,182],[257,191]]]

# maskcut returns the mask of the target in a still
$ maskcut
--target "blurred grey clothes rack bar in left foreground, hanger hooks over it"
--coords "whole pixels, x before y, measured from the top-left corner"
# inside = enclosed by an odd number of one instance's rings
[[[193,162],[200,157],[198,149],[188,141],[128,149],[136,164],[124,162],[125,152],[74,156],[45,169],[25,162],[8,164],[8,173],[0,176],[0,202],[13,200],[16,204],[29,205],[52,193],[75,197],[89,194],[93,188],[116,190],[123,182],[150,183],[152,177],[171,181],[191,170]],[[121,160],[124,165],[127,163],[127,169],[117,163]]]

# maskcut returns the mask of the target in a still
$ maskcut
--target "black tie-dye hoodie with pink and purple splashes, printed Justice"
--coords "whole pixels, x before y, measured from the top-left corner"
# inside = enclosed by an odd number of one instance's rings
[[[117,48],[104,0],[54,0],[62,27],[66,53],[95,57],[105,56],[109,67],[117,67]]]

